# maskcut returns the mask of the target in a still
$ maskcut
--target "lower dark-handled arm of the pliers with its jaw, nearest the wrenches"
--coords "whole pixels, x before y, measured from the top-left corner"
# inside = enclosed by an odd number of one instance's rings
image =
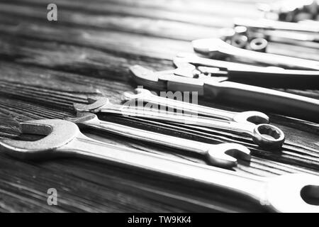
[[[139,85],[158,91],[198,92],[198,95],[205,96],[207,99],[223,100],[236,105],[244,104],[250,108],[265,109],[276,114],[319,121],[318,99],[225,81],[227,77],[206,76],[195,67],[185,76],[180,73],[182,70],[171,70],[170,73],[153,72],[139,65],[130,67],[130,71]],[[193,74],[193,77],[187,77],[189,74]]]

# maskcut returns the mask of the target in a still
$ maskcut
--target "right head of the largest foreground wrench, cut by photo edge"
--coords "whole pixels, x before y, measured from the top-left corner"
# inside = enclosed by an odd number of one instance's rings
[[[319,213],[319,177],[308,174],[273,177],[267,182],[265,196],[261,202],[279,212]]]

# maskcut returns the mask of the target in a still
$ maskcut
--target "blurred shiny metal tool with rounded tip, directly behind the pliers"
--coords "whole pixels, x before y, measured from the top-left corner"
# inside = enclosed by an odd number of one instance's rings
[[[245,63],[249,62],[250,64],[259,63],[262,65],[284,67],[294,70],[319,70],[319,62],[315,60],[306,60],[297,57],[236,48],[219,38],[194,40],[192,44],[196,52],[215,59],[227,58],[228,60],[237,60]]]

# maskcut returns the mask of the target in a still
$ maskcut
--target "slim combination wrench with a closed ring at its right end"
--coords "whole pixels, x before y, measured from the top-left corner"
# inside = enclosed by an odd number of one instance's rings
[[[201,116],[170,113],[168,111],[152,111],[151,109],[132,108],[125,105],[111,104],[107,98],[98,99],[93,104],[74,104],[77,111],[90,111],[92,113],[119,114],[122,116],[135,116],[153,119],[155,121],[168,121],[191,126],[203,126],[206,128],[218,128],[224,131],[250,135],[257,145],[263,148],[279,149],[284,143],[284,133],[277,127],[269,124],[254,125],[252,123],[238,123]]]

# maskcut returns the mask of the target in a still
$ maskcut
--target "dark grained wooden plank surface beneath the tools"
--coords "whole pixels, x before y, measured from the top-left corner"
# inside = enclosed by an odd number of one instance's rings
[[[0,1],[1,138],[16,138],[19,121],[74,116],[72,104],[86,104],[91,96],[104,95],[119,103],[122,92],[137,86],[130,79],[130,65],[171,69],[177,52],[192,51],[190,40],[215,37],[218,28],[232,26],[235,16],[259,17],[251,0],[56,0],[55,4],[58,21],[49,22],[47,5],[41,0]],[[272,44],[269,51],[319,60],[318,50]],[[287,91],[319,97],[317,90]],[[235,168],[245,175],[318,175],[318,124],[268,114],[286,133],[281,153],[261,150],[250,138],[231,133],[207,135],[115,116],[108,120],[204,142],[240,142],[253,155],[250,165],[240,163]],[[84,133],[145,152],[203,162],[169,148]],[[57,189],[58,206],[47,205],[49,188]],[[86,160],[26,162],[0,153],[0,211],[4,212],[262,211],[243,199],[223,190]]]

